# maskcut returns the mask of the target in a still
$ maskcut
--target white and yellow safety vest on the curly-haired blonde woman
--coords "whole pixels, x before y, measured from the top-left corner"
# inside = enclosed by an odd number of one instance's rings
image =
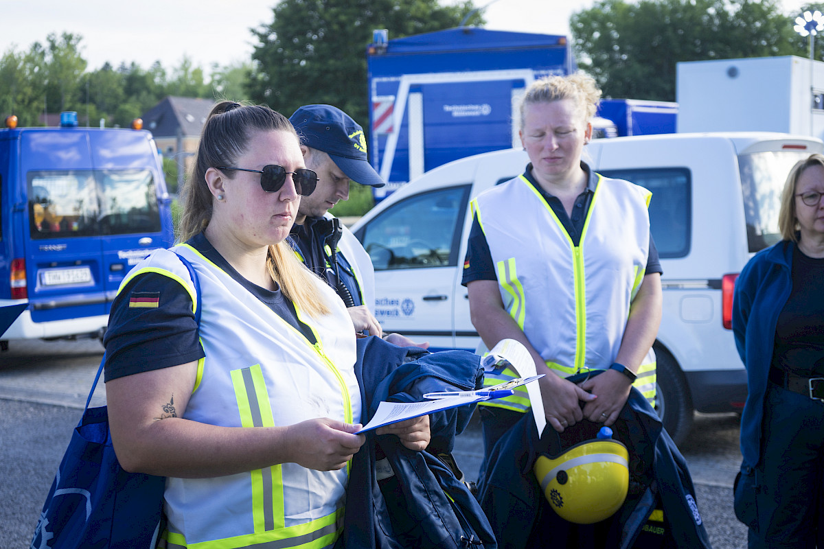
[[[523,175],[471,203],[489,244],[504,309],[561,377],[609,368],[618,355],[630,304],[644,279],[651,196],[643,187],[599,174],[578,246]],[[512,369],[488,373],[484,384],[514,377]],[[652,349],[634,386],[654,402]],[[529,398],[520,387],[512,397],[482,404],[526,412]]]

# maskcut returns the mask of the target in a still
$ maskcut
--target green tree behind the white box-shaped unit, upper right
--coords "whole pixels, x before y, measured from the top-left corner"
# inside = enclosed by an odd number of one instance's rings
[[[678,62],[803,55],[791,20],[777,0],[601,0],[570,28],[605,96],[672,101]]]

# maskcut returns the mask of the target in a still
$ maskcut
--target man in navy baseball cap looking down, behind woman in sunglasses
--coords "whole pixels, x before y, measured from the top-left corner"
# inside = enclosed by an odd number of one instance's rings
[[[358,332],[383,336],[402,346],[414,343],[398,333],[383,334],[370,307],[375,302],[375,271],[358,239],[329,209],[349,199],[349,180],[382,187],[367,160],[363,128],[331,105],[305,105],[289,118],[301,138],[303,161],[317,173],[315,191],[301,197],[290,238],[311,271],[337,291]]]

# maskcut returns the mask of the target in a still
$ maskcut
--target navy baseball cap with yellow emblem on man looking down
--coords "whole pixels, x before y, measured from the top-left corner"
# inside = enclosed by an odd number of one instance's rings
[[[304,105],[289,117],[289,122],[297,130],[302,145],[331,156],[355,183],[372,187],[386,184],[367,160],[363,128],[349,114],[332,105]]]

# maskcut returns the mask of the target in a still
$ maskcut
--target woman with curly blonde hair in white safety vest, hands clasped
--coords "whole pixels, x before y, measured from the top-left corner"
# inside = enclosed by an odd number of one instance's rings
[[[519,136],[529,164],[472,202],[463,284],[485,347],[522,342],[539,374],[546,420],[611,426],[635,386],[654,399],[652,345],[661,265],[650,193],[593,171],[582,156],[601,91],[592,77],[547,77],[527,88]],[[580,384],[567,380],[606,370]],[[514,373],[488,375],[495,384]],[[526,391],[480,408],[485,451],[530,408]]]

